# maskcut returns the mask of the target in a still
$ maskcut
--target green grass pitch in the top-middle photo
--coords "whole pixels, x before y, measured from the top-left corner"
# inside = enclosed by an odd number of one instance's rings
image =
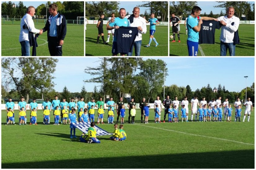
[[[85,32],[85,55],[86,56],[112,56],[112,35],[110,35],[110,42],[107,45],[103,44],[100,37],[100,44],[96,44],[98,29],[96,24],[87,24],[87,31]],[[104,39],[107,40],[108,31],[106,25],[103,26]],[[168,56],[168,26],[156,26],[154,34],[158,46],[155,47],[155,42],[152,41],[150,47],[145,47],[149,42],[149,26],[147,26],[146,34],[142,34],[141,56]],[[132,56],[135,56],[133,49]]]

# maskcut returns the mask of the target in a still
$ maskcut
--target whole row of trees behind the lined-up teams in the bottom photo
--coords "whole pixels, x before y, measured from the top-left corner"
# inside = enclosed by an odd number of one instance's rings
[[[91,79],[85,79],[87,86],[90,83],[97,83],[93,91],[88,92],[86,86],[83,86],[80,92],[71,93],[65,86],[63,91],[55,91],[53,82],[55,67],[58,62],[56,58],[2,58],[2,98],[12,97],[19,99],[24,96],[28,102],[29,99],[54,99],[58,95],[60,99],[84,97],[89,101],[92,97],[96,100],[102,97],[106,101],[106,96],[112,96],[114,100],[119,97],[125,97],[125,93],[130,93],[136,102],[146,98],[147,102],[154,102],[157,96],[164,100],[164,72],[165,78],[168,76],[168,68],[164,60],[142,58],[106,58],[98,60],[98,66],[87,67],[84,72],[93,75]],[[10,89],[12,87],[12,89]],[[98,90],[99,89],[99,90]],[[165,97],[169,95],[170,99],[175,96],[178,100],[183,100],[184,96],[188,100],[197,96],[199,100],[203,97],[207,101],[219,96],[224,100],[229,99],[230,103],[235,102],[236,98],[245,100],[245,88],[240,92],[228,91],[225,86],[219,84],[217,93],[213,92],[210,84],[207,84],[195,91],[191,87],[178,87],[176,84],[167,84],[165,86]],[[247,87],[247,97],[254,103],[254,83]],[[124,99],[127,102],[126,99]]]

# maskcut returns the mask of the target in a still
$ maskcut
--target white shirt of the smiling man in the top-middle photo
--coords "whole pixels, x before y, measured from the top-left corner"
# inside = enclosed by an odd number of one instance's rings
[[[129,18],[130,15],[125,16],[126,18]],[[133,18],[133,23],[130,23],[129,21],[129,27],[139,27],[141,26],[142,31],[139,30],[138,36],[136,36],[134,41],[140,41],[142,40],[142,35],[141,34],[146,34],[147,32],[147,27],[146,27],[146,20],[139,16],[138,18]]]

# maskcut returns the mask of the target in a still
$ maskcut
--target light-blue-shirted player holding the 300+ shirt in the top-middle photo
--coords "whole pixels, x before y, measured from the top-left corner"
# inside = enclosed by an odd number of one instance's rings
[[[124,8],[121,8],[119,10],[119,17],[115,18],[115,21],[112,23],[109,23],[107,30],[112,29],[118,29],[121,26],[128,27],[128,19],[126,16],[126,10]],[[116,33],[114,34],[114,40],[112,45],[112,54],[113,56],[117,56],[117,42],[116,42]],[[125,54],[120,53],[121,56],[124,56]]]

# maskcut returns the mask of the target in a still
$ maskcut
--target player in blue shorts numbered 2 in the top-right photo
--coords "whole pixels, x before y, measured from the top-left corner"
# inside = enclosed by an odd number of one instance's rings
[[[198,53],[198,41],[199,41],[199,31],[201,29],[201,24],[203,23],[202,19],[204,20],[215,20],[218,19],[210,18],[210,17],[200,17],[200,12],[202,9],[199,6],[194,6],[191,11],[191,15],[187,18],[187,49],[189,56],[197,56]],[[198,21],[199,20],[199,21]]]

